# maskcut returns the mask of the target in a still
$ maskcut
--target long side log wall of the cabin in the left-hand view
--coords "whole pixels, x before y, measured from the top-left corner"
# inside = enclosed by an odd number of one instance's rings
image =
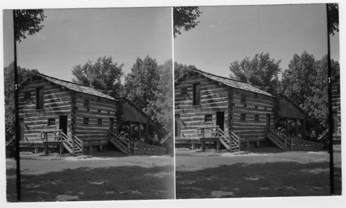
[[[89,107],[84,106],[85,99],[89,101]],[[78,109],[75,118],[76,136],[84,142],[104,144],[108,139],[109,118],[113,118],[113,130],[116,130],[116,101],[77,92],[75,106]],[[84,117],[89,118],[89,124],[83,123]],[[102,119],[102,125],[98,125],[98,119]]]

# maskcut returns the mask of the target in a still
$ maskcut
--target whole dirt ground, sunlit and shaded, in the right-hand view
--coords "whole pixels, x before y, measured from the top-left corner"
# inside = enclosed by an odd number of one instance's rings
[[[334,154],[336,194],[341,157]],[[329,196],[329,154],[274,148],[252,152],[176,149],[176,198]]]

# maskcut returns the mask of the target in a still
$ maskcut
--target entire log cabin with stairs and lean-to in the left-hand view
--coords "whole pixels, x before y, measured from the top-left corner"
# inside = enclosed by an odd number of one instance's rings
[[[34,73],[19,87],[21,150],[67,150],[72,155],[116,148],[129,155],[134,141],[118,132],[118,122],[146,126],[148,116],[130,101]],[[129,112],[125,112],[129,110]],[[132,129],[132,128],[130,128]],[[139,130],[140,131],[140,130]],[[142,135],[138,135],[142,139]]]

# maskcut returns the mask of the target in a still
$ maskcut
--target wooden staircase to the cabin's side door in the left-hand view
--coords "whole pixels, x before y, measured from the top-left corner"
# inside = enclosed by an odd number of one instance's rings
[[[125,155],[132,155],[134,153],[134,142],[129,141],[118,132],[108,131],[108,139],[113,146]]]

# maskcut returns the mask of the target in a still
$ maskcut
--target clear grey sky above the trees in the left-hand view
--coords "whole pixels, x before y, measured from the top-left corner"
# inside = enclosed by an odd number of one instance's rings
[[[13,60],[12,10],[3,14],[7,66]],[[171,8],[44,10],[44,28],[17,44],[17,62],[64,80],[71,80],[75,65],[104,55],[124,63],[125,74],[146,55],[163,64],[172,58],[171,14]]]

